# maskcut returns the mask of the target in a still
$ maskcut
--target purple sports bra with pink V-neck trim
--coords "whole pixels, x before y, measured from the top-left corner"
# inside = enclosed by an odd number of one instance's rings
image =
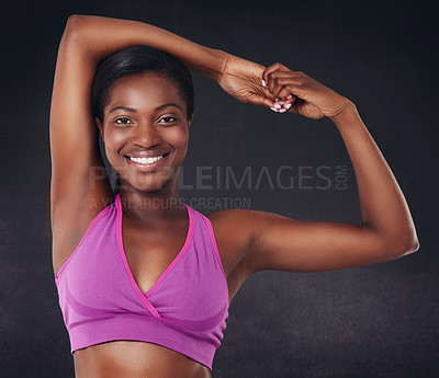
[[[212,369],[228,317],[227,280],[210,220],[184,206],[185,242],[146,294],[124,252],[120,195],[97,215],[55,275],[71,354],[133,340],[166,346]]]

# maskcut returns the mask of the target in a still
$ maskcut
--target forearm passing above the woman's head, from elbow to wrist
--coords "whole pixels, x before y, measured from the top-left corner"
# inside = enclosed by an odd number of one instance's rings
[[[196,73],[216,80],[224,71],[227,53],[193,43],[144,22],[72,14],[65,30],[66,41],[81,44],[95,64],[130,46],[147,45],[172,54]]]

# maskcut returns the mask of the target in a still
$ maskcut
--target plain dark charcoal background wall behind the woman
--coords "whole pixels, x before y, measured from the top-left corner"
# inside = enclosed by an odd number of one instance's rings
[[[251,276],[232,302],[214,377],[438,377],[439,33],[430,4],[3,1],[0,376],[74,376],[52,272],[48,117],[58,43],[68,15],[80,13],[151,23],[264,66],[280,61],[333,88],[357,104],[410,207],[415,254],[337,272]],[[251,208],[297,219],[360,221],[352,165],[330,121],[241,104],[193,77],[185,184],[195,186],[196,167],[230,165],[236,175],[267,167],[273,180],[282,165],[294,180],[299,167],[311,167],[312,177],[311,188],[267,181],[256,188],[255,179],[238,190],[214,176],[212,188],[182,191],[184,198],[245,197]],[[331,185],[319,190],[323,165]],[[347,167],[346,190],[336,188],[336,165]]]

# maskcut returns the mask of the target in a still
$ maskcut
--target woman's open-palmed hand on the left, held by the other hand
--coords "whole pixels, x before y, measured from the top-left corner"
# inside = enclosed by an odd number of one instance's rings
[[[262,87],[262,72],[266,67],[226,54],[223,75],[217,83],[235,99],[255,105],[274,106],[274,96]]]

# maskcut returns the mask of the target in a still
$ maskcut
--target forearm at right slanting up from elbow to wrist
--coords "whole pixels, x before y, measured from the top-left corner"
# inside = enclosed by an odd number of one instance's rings
[[[416,251],[416,229],[404,194],[356,106],[348,102],[333,122],[356,172],[363,225],[392,241],[392,248]]]

